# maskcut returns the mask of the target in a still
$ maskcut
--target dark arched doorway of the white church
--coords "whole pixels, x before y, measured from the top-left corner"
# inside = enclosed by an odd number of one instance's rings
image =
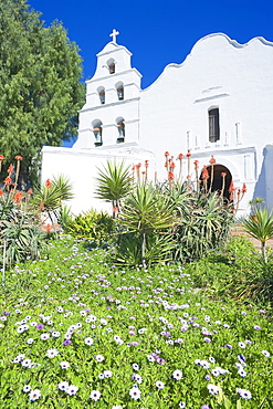
[[[229,200],[230,198],[229,188],[232,180],[232,175],[230,170],[223,165],[213,165],[213,170],[212,165],[209,165],[207,167],[207,170],[209,174],[209,178],[207,179],[207,189],[222,193],[223,188],[223,197]],[[202,178],[201,186],[203,187]]]

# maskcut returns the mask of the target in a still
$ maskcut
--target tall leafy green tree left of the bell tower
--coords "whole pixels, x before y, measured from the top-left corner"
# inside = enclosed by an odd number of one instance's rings
[[[74,136],[84,85],[78,48],[55,21],[45,28],[27,0],[0,2],[0,153],[23,156],[21,182],[36,175],[43,145]]]

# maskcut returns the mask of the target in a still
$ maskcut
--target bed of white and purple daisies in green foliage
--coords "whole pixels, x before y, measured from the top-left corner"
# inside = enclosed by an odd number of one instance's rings
[[[272,408],[272,323],[212,302],[181,266],[118,270],[62,239],[7,274],[7,408]]]

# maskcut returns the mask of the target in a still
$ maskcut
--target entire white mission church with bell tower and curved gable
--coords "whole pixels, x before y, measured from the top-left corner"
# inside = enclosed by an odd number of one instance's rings
[[[130,65],[132,53],[117,44],[117,34],[114,30],[86,81],[76,143],[43,148],[42,179],[70,177],[75,213],[107,209],[94,197],[96,169],[107,159],[141,162],[143,168],[149,160],[150,179],[156,171],[160,180],[166,178],[165,151],[177,158],[190,150],[200,172],[213,155],[216,185],[221,172],[238,188],[246,183],[242,213],[255,197],[273,208],[273,43],[207,35],[181,64],[167,65],[141,90],[141,74]],[[185,160],[185,174],[187,166]]]

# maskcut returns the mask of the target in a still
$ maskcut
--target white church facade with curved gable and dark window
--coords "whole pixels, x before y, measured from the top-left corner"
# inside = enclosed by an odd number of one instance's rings
[[[224,34],[201,39],[182,64],[168,65],[140,93],[140,144],[155,151],[159,174],[166,150],[176,157],[191,149],[192,159],[203,165],[214,155],[217,162],[233,168],[235,185],[248,183],[246,208],[263,148],[273,141],[272,66],[272,43],[256,38],[240,45]],[[220,115],[217,143],[209,141],[208,111],[213,107]]]

